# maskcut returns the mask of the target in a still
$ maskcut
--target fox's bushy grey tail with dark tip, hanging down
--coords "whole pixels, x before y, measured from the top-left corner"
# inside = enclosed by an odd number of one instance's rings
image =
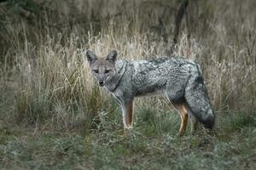
[[[201,74],[189,78],[185,99],[198,121],[203,123],[206,128],[212,129],[215,116]]]

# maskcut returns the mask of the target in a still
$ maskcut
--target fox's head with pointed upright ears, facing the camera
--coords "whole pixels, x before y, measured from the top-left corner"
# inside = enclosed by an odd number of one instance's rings
[[[100,86],[104,86],[106,82],[115,76],[116,71],[114,65],[117,58],[117,52],[115,50],[112,50],[106,58],[98,58],[96,54],[87,50],[86,57],[90,65],[92,75]]]

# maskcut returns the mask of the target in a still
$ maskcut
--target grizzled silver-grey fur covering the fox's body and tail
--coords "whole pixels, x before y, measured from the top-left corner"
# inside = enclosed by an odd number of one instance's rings
[[[119,101],[123,116],[124,105],[135,97],[165,94],[172,104],[189,105],[191,121],[197,119],[205,127],[213,127],[215,116],[207,88],[200,66],[194,61],[176,57],[137,61],[119,59],[113,70],[111,79],[106,77],[104,88]],[[98,80],[97,76],[95,78]]]

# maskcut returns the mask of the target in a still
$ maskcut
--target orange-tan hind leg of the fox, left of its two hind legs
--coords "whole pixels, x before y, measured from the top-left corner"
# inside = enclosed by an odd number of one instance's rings
[[[186,130],[187,123],[188,123],[188,110],[184,104],[179,104],[179,105],[175,104],[173,106],[177,109],[181,118],[181,125],[178,131],[178,135],[182,136]]]

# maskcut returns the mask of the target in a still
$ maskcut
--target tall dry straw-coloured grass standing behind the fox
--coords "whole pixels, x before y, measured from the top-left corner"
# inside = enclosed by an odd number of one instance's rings
[[[170,54],[177,5],[176,1],[113,0],[69,2],[61,8],[55,1],[33,24],[17,16],[15,22],[9,21],[15,14],[1,7],[2,14],[8,12],[0,34],[1,82],[11,79],[15,84],[11,89],[15,120],[89,129],[102,111],[115,112],[115,103],[96,87],[84,58],[86,49],[104,57],[113,48],[125,59],[166,55],[195,59],[219,119],[232,111],[253,114],[254,1],[191,1],[179,42]],[[137,107],[150,108],[152,103],[160,107],[167,101],[138,99]]]

